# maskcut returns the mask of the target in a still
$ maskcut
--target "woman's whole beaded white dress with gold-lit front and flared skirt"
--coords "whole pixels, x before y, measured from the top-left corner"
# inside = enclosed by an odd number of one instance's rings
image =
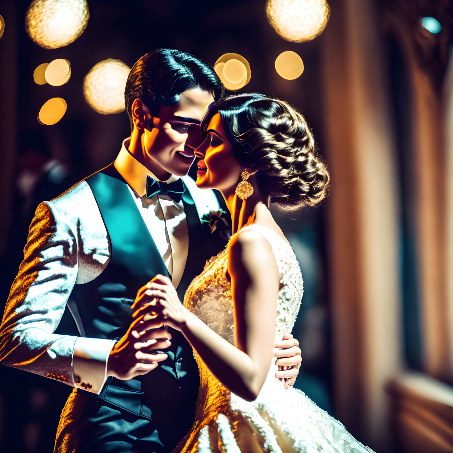
[[[299,263],[293,249],[275,231],[255,224],[245,229],[261,233],[275,255],[281,279],[275,339],[281,339],[294,326],[304,292]],[[226,264],[227,249],[207,261],[203,272],[188,287],[184,306],[235,344]],[[302,391],[285,390],[275,378],[275,358],[256,400],[246,401],[222,386],[197,352],[193,353],[200,371],[195,423],[173,453],[372,452]]]

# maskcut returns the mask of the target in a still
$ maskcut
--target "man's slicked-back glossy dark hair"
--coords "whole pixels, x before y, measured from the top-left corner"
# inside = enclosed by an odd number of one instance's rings
[[[181,93],[196,87],[211,92],[216,101],[225,93],[212,66],[189,53],[162,48],[143,55],[130,70],[124,92],[131,129],[135,99],[140,99],[156,116],[160,106],[174,106]]]

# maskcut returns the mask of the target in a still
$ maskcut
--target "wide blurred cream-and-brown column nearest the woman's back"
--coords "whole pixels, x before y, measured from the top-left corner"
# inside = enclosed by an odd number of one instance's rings
[[[323,57],[335,415],[363,443],[389,451],[384,386],[401,367],[399,207],[378,15],[372,0],[330,4]]]

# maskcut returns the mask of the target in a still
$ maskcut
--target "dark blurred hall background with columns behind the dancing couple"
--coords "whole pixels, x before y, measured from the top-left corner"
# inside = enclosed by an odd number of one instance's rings
[[[46,50],[24,30],[28,1],[2,0],[0,39],[0,304],[22,259],[39,202],[110,164],[130,135],[125,112],[101,115],[83,77],[101,60],[129,67],[161,47],[214,64],[239,53],[241,91],[299,107],[332,176],[321,207],[275,213],[304,276],[294,336],[296,387],[378,452],[453,452],[453,4],[448,0],[332,0],[327,28],[306,43],[280,38],[261,0],[90,0],[82,36]],[[432,16],[432,34],[421,19]],[[285,80],[275,58],[298,53]],[[61,87],[34,69],[70,61]],[[39,109],[62,97],[57,124]],[[77,335],[65,313],[57,333]],[[0,451],[50,452],[69,386],[0,366]]]

